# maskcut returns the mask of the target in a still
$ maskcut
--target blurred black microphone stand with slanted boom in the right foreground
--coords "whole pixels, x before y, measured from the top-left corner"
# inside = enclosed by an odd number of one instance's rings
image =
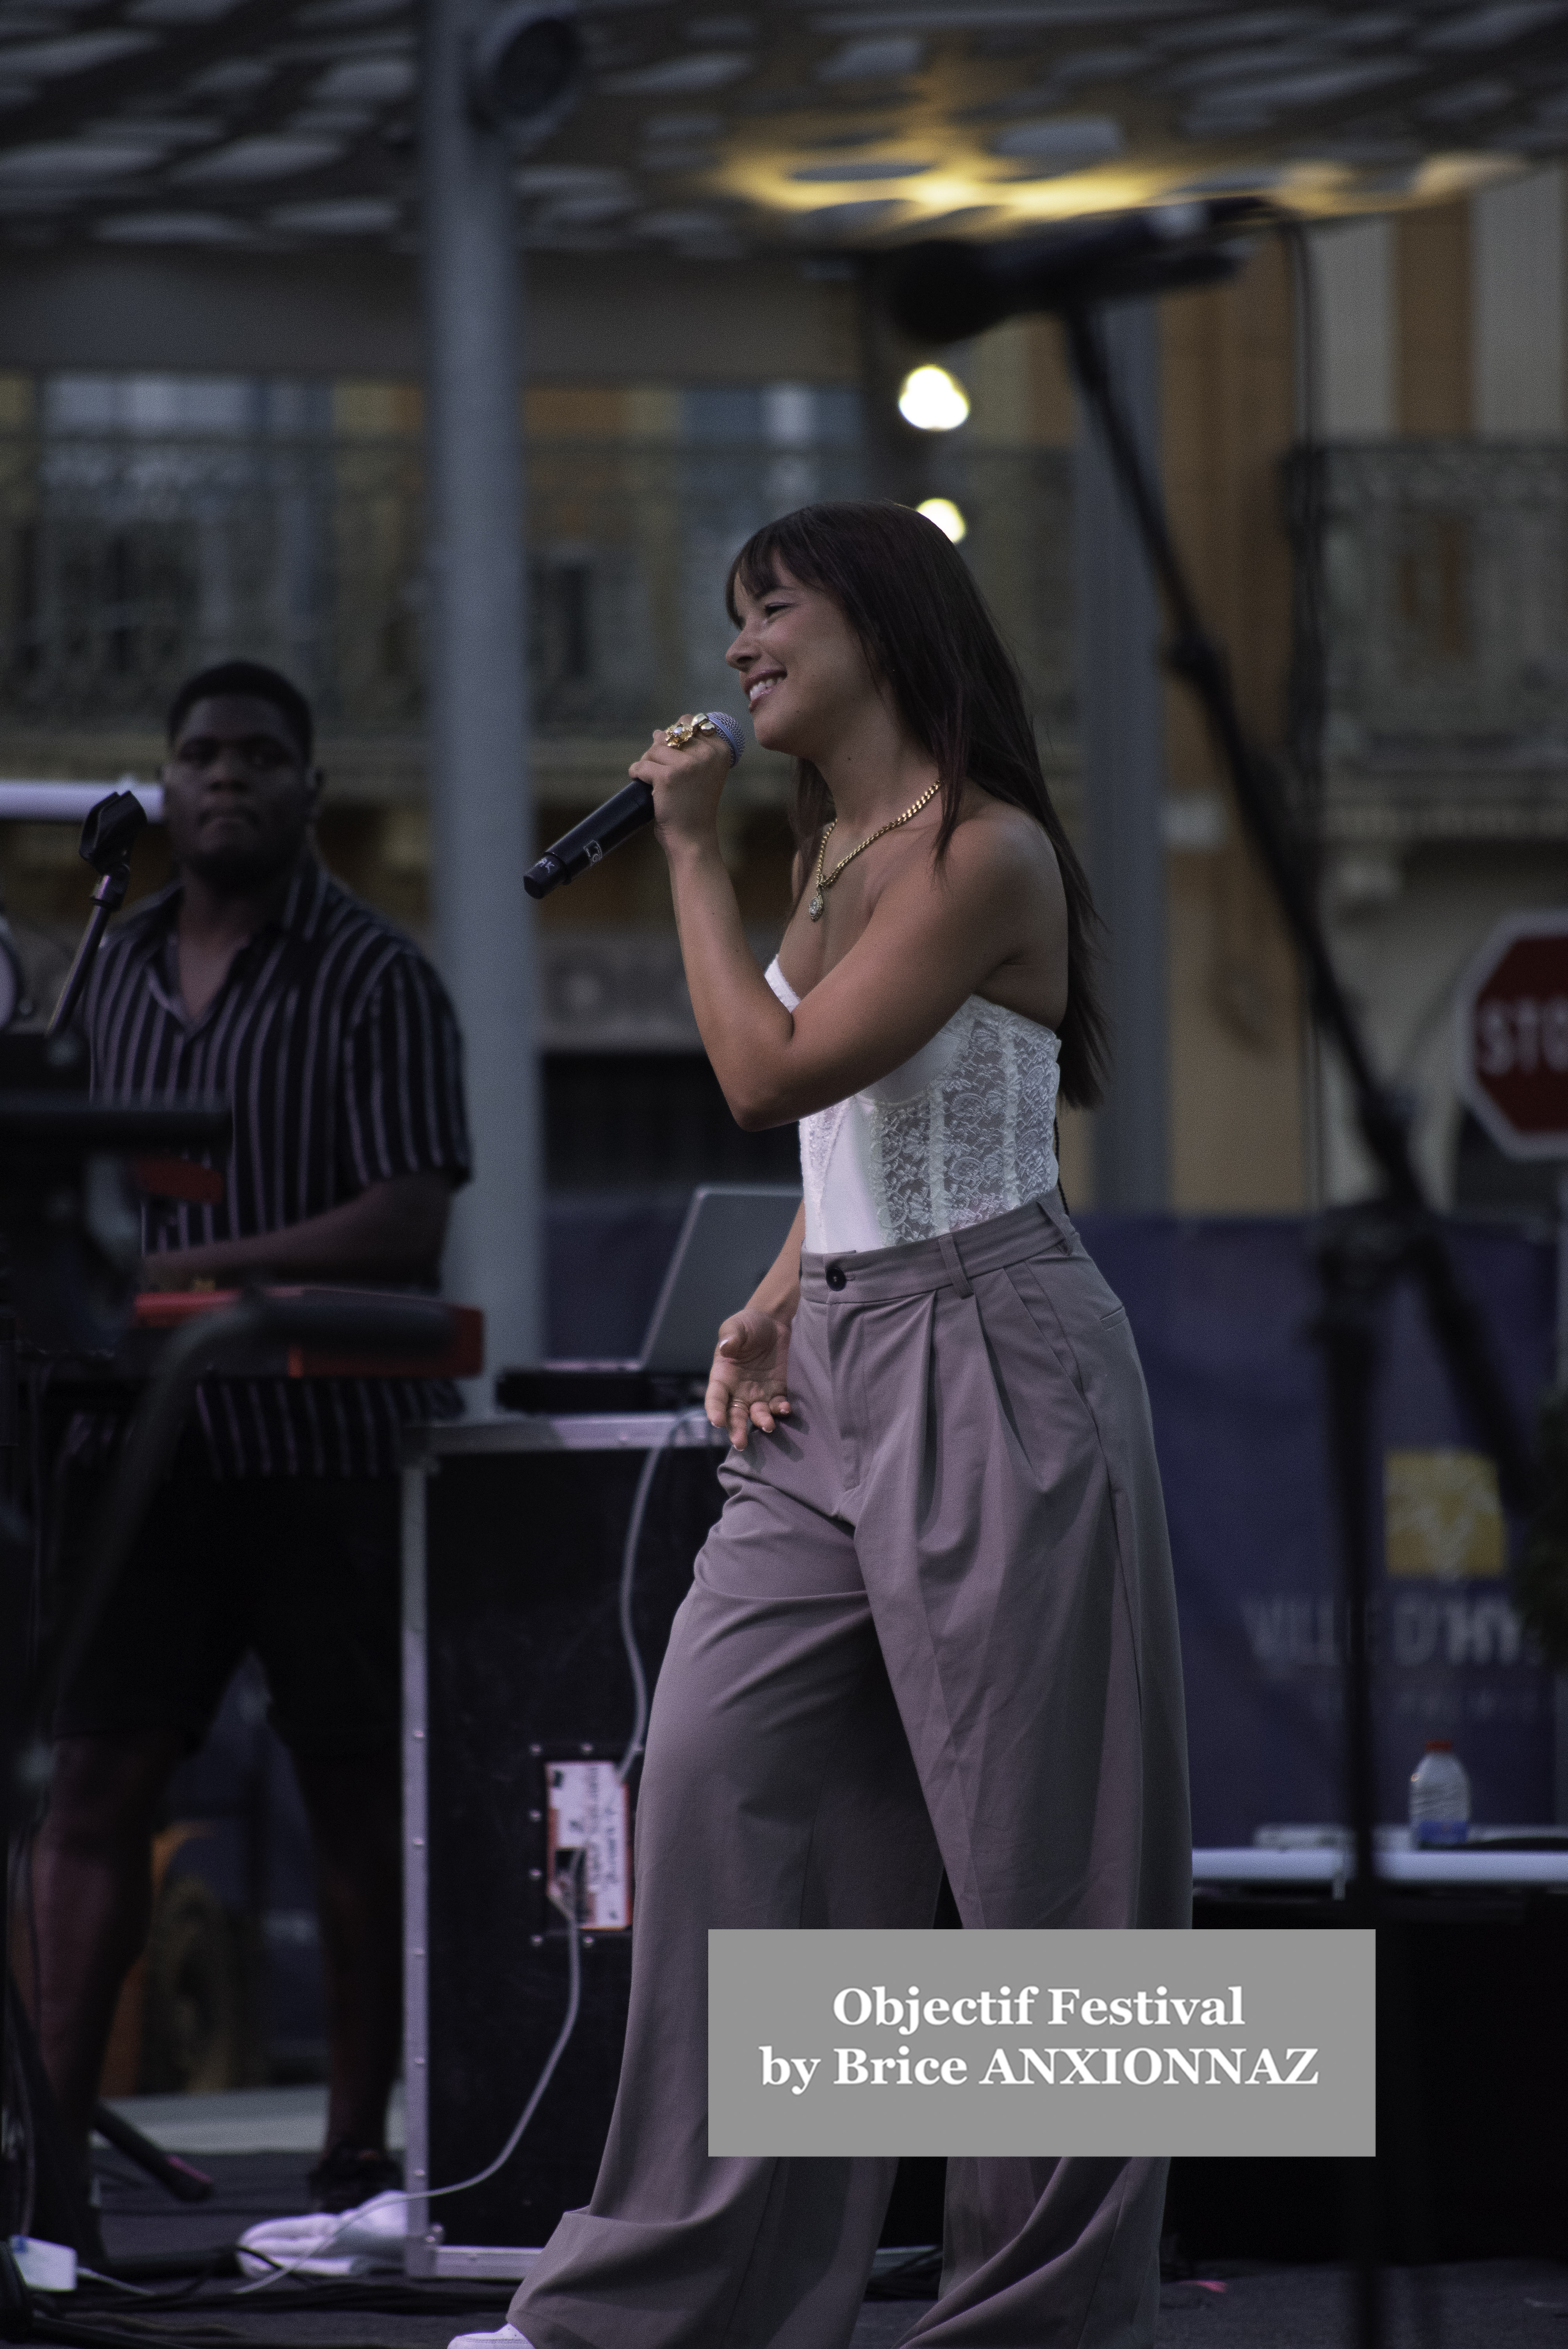
[[[1347,1907],[1350,1921],[1373,1924],[1378,1914],[1373,1849],[1378,1792],[1368,1654],[1373,1576],[1368,1416],[1378,1374],[1378,1308],[1401,1273],[1411,1273],[1420,1287],[1448,1379],[1486,1449],[1498,1461],[1505,1499],[1514,1508],[1528,1506],[1535,1478],[1493,1360],[1486,1322],[1453,1271],[1439,1219],[1415,1172],[1406,1111],[1373,1069],[1361,1024],[1333,968],[1317,897],[1296,853],[1277,785],[1242,731],[1225,655],[1202,622],[1197,597],[1171,540],[1164,503],[1117,399],[1099,324],[1087,303],[1063,305],[1061,317],[1073,373],[1106,439],[1113,470],[1164,594],[1171,620],[1167,665],[1202,702],[1214,745],[1230,775],[1242,824],[1300,956],[1312,1017],[1340,1052],[1354,1092],[1361,1139],[1383,1177],[1380,1198],[1324,1219],[1317,1247],[1322,1311],[1314,1325],[1314,1339],[1329,1372],[1329,1438],[1343,1550],[1345,1792],[1357,1858]],[[1380,2314],[1376,2203],[1364,2201],[1357,2232],[1361,2236],[1357,2246],[1359,2337],[1371,2349],[1378,2340]]]

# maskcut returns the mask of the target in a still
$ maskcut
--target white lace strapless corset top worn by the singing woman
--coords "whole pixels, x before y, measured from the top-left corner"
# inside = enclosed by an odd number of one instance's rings
[[[768,984],[793,1012],[777,956]],[[1059,1055],[1038,1019],[969,996],[901,1069],[800,1118],[805,1247],[901,1247],[1054,1191]]]

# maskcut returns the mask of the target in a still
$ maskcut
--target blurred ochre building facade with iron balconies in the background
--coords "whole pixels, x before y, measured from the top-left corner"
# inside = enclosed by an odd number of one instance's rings
[[[1563,174],[1533,171],[1268,242],[1160,319],[1178,540],[1319,862],[1380,1066],[1415,1095],[1427,1177],[1472,1205],[1554,1182],[1516,1182],[1460,1116],[1451,1001],[1500,911],[1568,895],[1563,223]],[[735,698],[730,554],[819,496],[958,503],[1080,827],[1077,425],[1056,329],[1014,322],[948,355],[969,423],[918,437],[892,406],[911,352],[847,261],[542,256],[530,275],[519,658],[538,841],[624,780],[650,726]],[[423,930],[439,778],[411,265],[21,254],[5,277],[0,773],[148,775],[190,667],[275,660],[322,714],[329,862]],[[1171,1205],[1347,1196],[1366,1167],[1336,1071],[1174,686],[1164,756]],[[725,803],[758,951],[789,907],[786,789],[751,749]],[[157,874],[153,836],[141,881]],[[0,886],[47,996],[85,914],[70,836],[0,827]],[[650,1182],[784,1163],[786,1137],[732,1135],[704,1090],[650,843],[542,909],[540,1012],[556,1186],[624,1182],[638,1135]],[[1084,1120],[1066,1120],[1063,1165],[1087,1203]]]

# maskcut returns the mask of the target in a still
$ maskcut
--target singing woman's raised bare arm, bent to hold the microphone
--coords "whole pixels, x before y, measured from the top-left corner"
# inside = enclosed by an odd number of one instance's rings
[[[930,853],[906,855],[843,961],[786,1012],[756,968],[718,853],[723,761],[723,747],[655,745],[631,773],[655,785],[692,1010],[739,1125],[786,1125],[897,1069],[1042,935],[1061,942],[1066,972],[1052,843],[1030,817],[993,806],[960,824],[941,871]]]

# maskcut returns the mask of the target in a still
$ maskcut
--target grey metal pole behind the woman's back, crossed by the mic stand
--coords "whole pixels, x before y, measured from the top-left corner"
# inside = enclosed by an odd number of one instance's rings
[[[1160,472],[1160,319],[1101,312],[1106,357],[1150,474]],[[1169,975],[1164,940],[1164,709],[1160,601],[1134,514],[1080,399],[1073,557],[1089,879],[1110,933],[1113,1069],[1094,1120],[1094,1205],[1167,1207]]]

